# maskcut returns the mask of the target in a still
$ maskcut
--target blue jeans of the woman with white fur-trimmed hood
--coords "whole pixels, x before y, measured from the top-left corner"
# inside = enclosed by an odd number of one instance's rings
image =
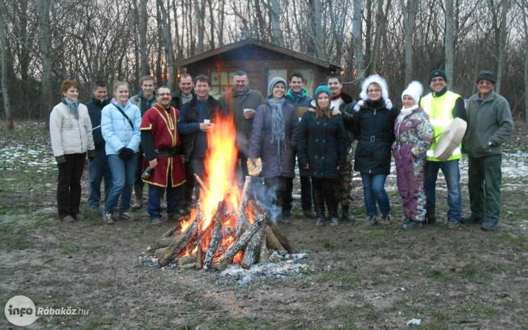
[[[386,174],[361,173],[367,215],[377,215],[377,205],[382,213],[390,212],[391,203],[385,191]]]

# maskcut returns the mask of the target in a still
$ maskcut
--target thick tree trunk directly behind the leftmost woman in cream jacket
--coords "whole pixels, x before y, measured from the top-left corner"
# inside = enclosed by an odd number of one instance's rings
[[[39,37],[40,53],[42,56],[42,102],[40,115],[46,119],[46,127],[49,126],[49,113],[52,107],[51,70],[53,61],[51,58],[51,31],[49,24],[49,0],[37,0],[39,14]]]

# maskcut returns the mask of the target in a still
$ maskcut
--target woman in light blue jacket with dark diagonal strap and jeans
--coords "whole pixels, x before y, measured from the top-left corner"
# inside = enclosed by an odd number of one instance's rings
[[[112,212],[118,208],[119,198],[119,218],[132,218],[129,211],[130,198],[141,142],[139,126],[142,123],[142,115],[139,108],[128,99],[128,83],[115,82],[113,94],[115,96],[111,103],[105,106],[101,113],[101,132],[106,141],[106,157],[112,172],[112,188],[103,211],[103,222],[106,224],[113,224]]]

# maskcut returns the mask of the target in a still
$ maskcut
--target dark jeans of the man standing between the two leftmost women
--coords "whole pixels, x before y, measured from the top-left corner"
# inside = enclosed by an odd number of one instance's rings
[[[112,188],[112,172],[106,159],[103,148],[95,149],[95,157],[89,163],[89,187],[88,187],[88,207],[99,208],[101,202],[101,181],[104,178],[104,199],[108,198],[108,193]]]

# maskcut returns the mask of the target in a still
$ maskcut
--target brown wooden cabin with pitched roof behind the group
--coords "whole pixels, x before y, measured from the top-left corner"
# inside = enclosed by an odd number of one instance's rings
[[[218,96],[230,89],[233,72],[244,70],[249,79],[249,88],[268,95],[268,82],[273,77],[288,81],[294,70],[303,73],[308,95],[327,75],[341,71],[338,65],[297,51],[262,42],[257,39],[244,39],[234,44],[206,51],[176,63],[179,72],[187,72],[193,77],[206,75],[211,80],[210,94]]]

